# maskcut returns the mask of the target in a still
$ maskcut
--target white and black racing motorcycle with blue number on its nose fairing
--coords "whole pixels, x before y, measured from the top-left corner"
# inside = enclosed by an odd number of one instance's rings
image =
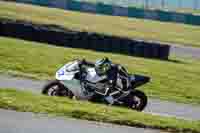
[[[124,67],[123,69],[126,70]],[[124,78],[128,81],[128,89],[121,89],[123,77],[120,76],[113,88],[108,80],[98,76],[95,68],[83,69],[79,65],[79,60],[74,60],[56,72],[56,80],[47,83],[42,89],[42,94],[125,106],[142,111],[147,105],[147,96],[135,88],[146,84],[150,78],[136,74],[127,73],[127,75]]]

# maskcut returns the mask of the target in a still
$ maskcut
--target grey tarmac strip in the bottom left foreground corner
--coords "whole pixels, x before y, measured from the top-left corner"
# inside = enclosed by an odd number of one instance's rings
[[[0,133],[160,133],[84,120],[63,119],[0,109]]]

